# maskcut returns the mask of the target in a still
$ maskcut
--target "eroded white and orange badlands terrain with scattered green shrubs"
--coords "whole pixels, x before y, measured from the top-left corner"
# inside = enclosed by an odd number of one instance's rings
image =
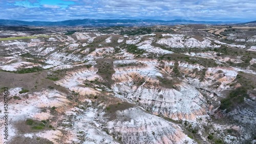
[[[0,143],[256,143],[255,27],[0,27],[0,81]]]

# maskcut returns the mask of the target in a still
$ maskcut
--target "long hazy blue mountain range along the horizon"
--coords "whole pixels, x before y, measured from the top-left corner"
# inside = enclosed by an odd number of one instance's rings
[[[185,19],[154,20],[154,19],[74,19],[64,21],[22,21],[0,19],[0,26],[152,26],[152,25],[177,25],[177,24],[227,24],[239,22],[222,21],[194,21]]]

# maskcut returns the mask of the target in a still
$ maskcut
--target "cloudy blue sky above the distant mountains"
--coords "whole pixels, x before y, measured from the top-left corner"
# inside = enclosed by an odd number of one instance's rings
[[[256,0],[0,0],[0,19],[254,21]]]

